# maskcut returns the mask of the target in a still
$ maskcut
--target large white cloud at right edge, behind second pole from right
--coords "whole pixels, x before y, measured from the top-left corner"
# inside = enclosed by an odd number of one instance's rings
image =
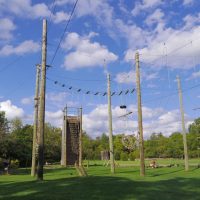
[[[168,28],[158,34],[152,34],[152,40],[147,38],[147,44],[143,42],[143,48],[138,51],[140,59],[144,63],[153,63],[154,68],[163,67],[190,69],[194,67],[194,57],[198,58],[200,52],[199,40],[200,27],[194,26],[189,30],[174,30]],[[126,51],[125,60],[130,62],[135,55],[135,50]],[[166,56],[167,55],[167,56]],[[200,59],[196,60],[196,64]]]

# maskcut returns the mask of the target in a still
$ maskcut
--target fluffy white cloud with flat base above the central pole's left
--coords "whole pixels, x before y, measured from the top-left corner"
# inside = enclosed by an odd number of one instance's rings
[[[62,48],[68,52],[64,61],[66,69],[103,66],[104,60],[107,63],[117,60],[117,55],[106,46],[91,40],[95,35],[90,33],[88,36],[80,36],[74,32],[67,35],[62,44]]]

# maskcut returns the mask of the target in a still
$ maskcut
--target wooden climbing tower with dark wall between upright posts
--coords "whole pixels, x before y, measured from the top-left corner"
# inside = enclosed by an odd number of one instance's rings
[[[82,164],[82,108],[63,111],[61,165]]]

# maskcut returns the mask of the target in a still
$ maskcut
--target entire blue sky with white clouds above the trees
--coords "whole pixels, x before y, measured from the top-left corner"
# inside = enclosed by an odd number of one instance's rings
[[[200,2],[79,0],[52,62],[75,0],[0,0],[0,109],[32,123],[35,64],[41,62],[42,19],[48,22],[46,121],[61,126],[62,109],[83,106],[83,127],[107,132],[106,73],[112,91],[135,88],[140,54],[144,134],[181,130],[176,76],[184,89],[186,124],[199,116]],[[54,81],[58,81],[55,84]],[[65,84],[65,87],[61,85]],[[72,86],[72,89],[68,88]],[[81,89],[81,92],[77,92]],[[90,91],[90,95],[85,93]],[[101,95],[94,95],[101,92]],[[137,132],[136,93],[114,95],[114,134]],[[128,118],[119,118],[126,111]]]

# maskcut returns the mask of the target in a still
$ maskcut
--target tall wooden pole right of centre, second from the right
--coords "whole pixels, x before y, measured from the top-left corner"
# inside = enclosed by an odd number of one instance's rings
[[[142,125],[142,103],[141,103],[141,89],[140,89],[140,63],[139,53],[135,54],[136,65],[136,84],[137,84],[137,102],[138,102],[138,128],[139,128],[139,144],[140,144],[140,176],[145,175],[145,160],[144,160],[144,139],[143,139],[143,125]]]

